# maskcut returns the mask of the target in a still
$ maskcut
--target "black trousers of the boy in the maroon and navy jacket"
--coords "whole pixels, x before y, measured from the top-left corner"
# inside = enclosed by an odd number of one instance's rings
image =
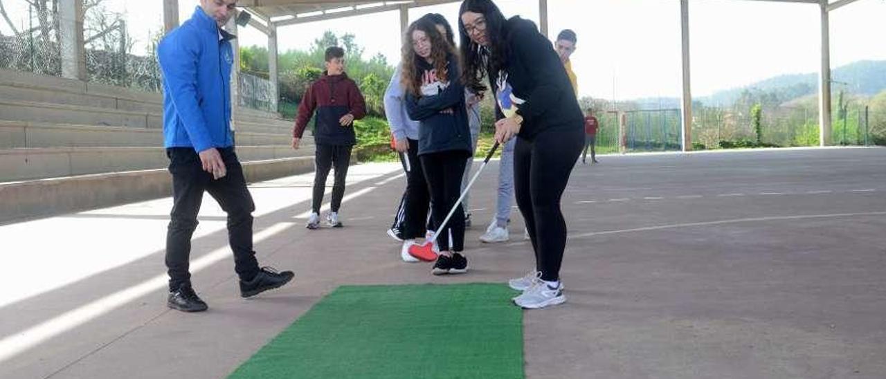
[[[351,164],[351,145],[331,145],[318,143],[314,153],[314,196],[311,209],[314,213],[320,213],[320,205],[323,203],[323,192],[326,191],[326,178],[330,174],[330,168],[335,168],[335,182],[332,184],[332,212],[338,212],[341,199],[345,197],[345,178],[347,167]]]

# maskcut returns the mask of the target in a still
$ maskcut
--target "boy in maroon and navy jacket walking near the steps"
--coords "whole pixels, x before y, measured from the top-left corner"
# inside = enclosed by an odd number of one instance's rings
[[[357,143],[354,135],[354,120],[366,115],[366,102],[357,84],[345,73],[345,50],[338,46],[326,49],[326,71],[307,88],[301,98],[299,116],[292,130],[292,148],[298,149],[301,136],[305,133],[307,121],[314,111],[316,128],[314,135],[315,176],[314,198],[307,228],[320,226],[320,204],[326,190],[326,177],[330,168],[335,167],[335,183],[332,185],[332,202],[326,222],[330,227],[341,228],[338,220],[338,207],[345,197],[345,177],[351,160],[351,149]]]

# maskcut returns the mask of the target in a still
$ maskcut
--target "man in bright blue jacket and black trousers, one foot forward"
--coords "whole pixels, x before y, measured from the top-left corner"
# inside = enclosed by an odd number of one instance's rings
[[[237,0],[200,0],[193,16],[159,43],[163,71],[163,141],[173,182],[167,231],[167,306],[205,311],[190,284],[190,237],[197,228],[203,192],[228,213],[240,295],[249,298],[291,281],[291,271],[259,267],[253,251],[253,197],[234,152],[230,130],[230,35],[221,27],[236,12]]]

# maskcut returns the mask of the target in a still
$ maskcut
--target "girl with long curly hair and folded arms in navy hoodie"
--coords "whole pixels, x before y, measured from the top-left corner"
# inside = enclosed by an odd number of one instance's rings
[[[428,18],[413,22],[403,41],[402,84],[409,118],[420,122],[418,157],[431,193],[431,217],[439,232],[440,254],[434,275],[468,270],[464,213],[456,208],[446,228],[440,225],[461,194],[462,173],[471,154],[464,86],[454,48]],[[416,257],[425,258],[425,257]]]

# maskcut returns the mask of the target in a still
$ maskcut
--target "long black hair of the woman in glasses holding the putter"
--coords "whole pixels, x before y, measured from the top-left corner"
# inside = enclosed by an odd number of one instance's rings
[[[480,46],[470,41],[468,31],[464,29],[462,14],[465,12],[480,13],[486,19],[486,41],[489,46]],[[490,76],[495,79],[499,71],[508,66],[508,43],[504,36],[506,19],[492,0],[464,0],[458,10],[458,32],[461,35],[462,50],[462,83],[477,93],[486,90],[483,78]]]

